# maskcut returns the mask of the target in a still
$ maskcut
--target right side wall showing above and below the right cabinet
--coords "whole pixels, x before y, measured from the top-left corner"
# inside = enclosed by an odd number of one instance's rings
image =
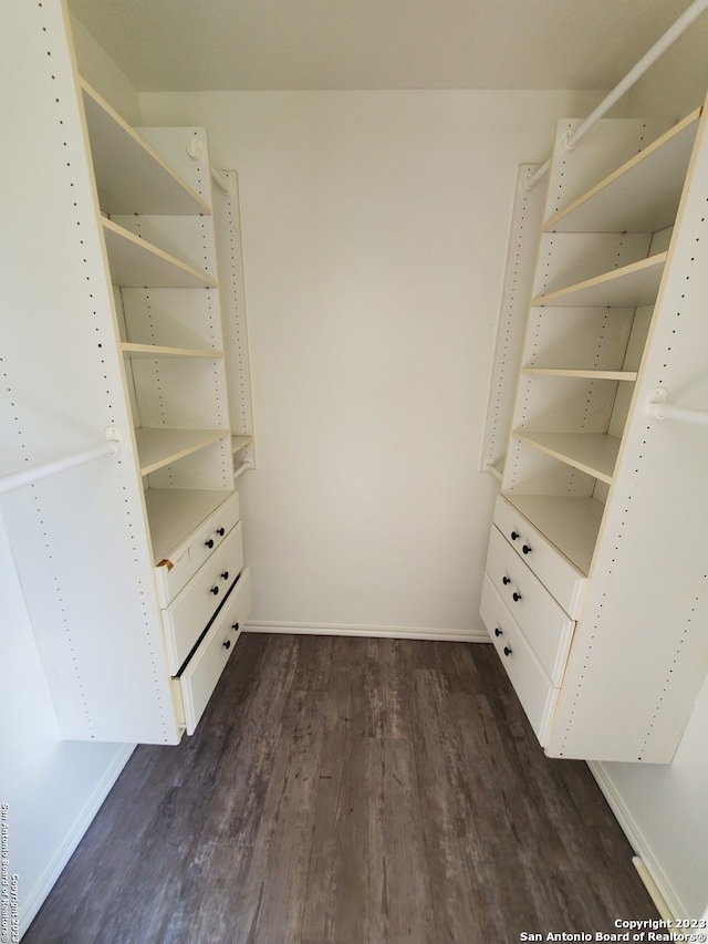
[[[708,87],[708,13],[627,96],[633,114],[679,118]],[[707,404],[708,405],[708,404]],[[688,522],[687,522],[688,526]],[[597,776],[675,914],[708,917],[708,683],[674,763],[598,765]]]

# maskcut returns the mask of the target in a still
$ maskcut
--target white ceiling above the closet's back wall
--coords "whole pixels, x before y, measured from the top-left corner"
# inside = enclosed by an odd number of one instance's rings
[[[138,91],[611,89],[690,0],[69,0]]]

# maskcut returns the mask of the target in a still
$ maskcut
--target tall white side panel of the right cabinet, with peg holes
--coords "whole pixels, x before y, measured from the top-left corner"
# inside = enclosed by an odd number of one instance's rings
[[[708,429],[645,412],[656,387],[708,409],[705,122],[700,134],[549,745],[556,756],[668,763],[708,667]]]

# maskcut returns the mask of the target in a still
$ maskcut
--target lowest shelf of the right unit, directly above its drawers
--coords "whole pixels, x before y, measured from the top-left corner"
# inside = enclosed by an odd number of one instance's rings
[[[504,494],[504,498],[582,573],[590,573],[605,506],[573,495]]]

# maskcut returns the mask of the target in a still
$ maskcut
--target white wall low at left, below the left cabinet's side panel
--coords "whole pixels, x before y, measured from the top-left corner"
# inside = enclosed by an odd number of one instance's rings
[[[27,929],[132,747],[62,740],[0,518],[0,801]]]

